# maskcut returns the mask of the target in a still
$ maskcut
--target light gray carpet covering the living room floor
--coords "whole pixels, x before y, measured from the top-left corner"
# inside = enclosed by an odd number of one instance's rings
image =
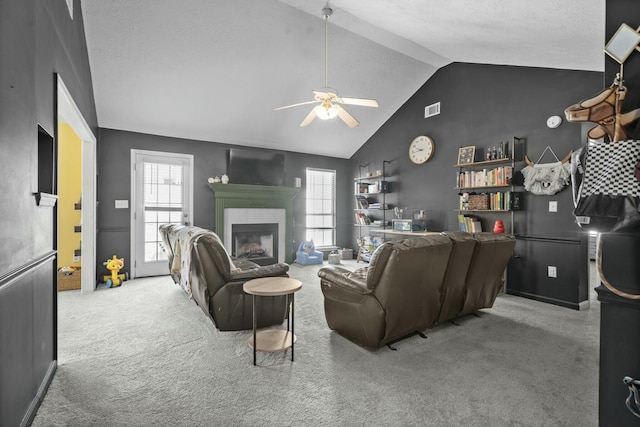
[[[351,267],[354,263],[351,263]],[[219,332],[169,277],[59,294],[59,367],[34,426],[596,426],[599,303],[500,296],[481,317],[363,349],[291,266],[295,362]]]

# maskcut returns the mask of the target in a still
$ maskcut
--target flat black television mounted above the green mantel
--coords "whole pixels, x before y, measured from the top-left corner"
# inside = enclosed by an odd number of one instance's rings
[[[284,185],[284,153],[231,148],[227,150],[227,175],[232,184]]]

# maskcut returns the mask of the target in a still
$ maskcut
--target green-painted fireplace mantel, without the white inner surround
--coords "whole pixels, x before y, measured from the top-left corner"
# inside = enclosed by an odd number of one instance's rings
[[[269,185],[209,184],[215,198],[216,234],[224,241],[224,210],[226,208],[284,209],[285,261],[293,262],[293,199],[299,188]]]

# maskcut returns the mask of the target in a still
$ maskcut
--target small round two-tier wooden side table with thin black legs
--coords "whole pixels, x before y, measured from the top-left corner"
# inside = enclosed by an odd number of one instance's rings
[[[253,348],[253,365],[256,365],[256,352],[275,352],[291,348],[291,361],[293,362],[293,349],[296,341],[294,334],[294,293],[302,289],[302,282],[290,277],[261,277],[249,280],[242,285],[242,290],[253,296],[253,336],[249,338],[249,346]],[[257,331],[256,297],[287,296],[287,305],[290,305],[287,316],[287,330],[265,329]],[[291,326],[291,329],[289,329]]]

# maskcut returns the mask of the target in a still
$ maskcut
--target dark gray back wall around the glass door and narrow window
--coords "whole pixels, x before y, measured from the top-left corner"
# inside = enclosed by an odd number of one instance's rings
[[[115,209],[115,200],[131,201],[131,150],[150,150],[194,156],[194,215],[192,223],[215,230],[214,197],[207,178],[226,172],[226,152],[232,145],[171,138],[113,129],[100,129],[98,143],[98,243],[97,265],[113,254],[130,259],[131,219],[129,209]],[[351,237],[351,214],[340,207],[349,203],[352,181],[346,159],[294,152],[285,154],[285,186],[293,187],[302,178],[302,188],[294,199],[294,244],[305,240],[306,168],[332,169],[337,179],[337,244],[346,246]],[[347,180],[349,181],[347,184]],[[125,271],[129,271],[125,260]],[[98,268],[98,276],[103,274]],[[106,273],[105,273],[106,274]]]

